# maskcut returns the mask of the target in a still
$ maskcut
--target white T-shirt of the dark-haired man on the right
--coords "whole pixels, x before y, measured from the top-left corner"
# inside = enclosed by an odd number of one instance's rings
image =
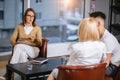
[[[105,43],[107,53],[112,53],[111,62],[112,64],[120,65],[120,44],[118,40],[108,31],[105,30],[101,41]]]

